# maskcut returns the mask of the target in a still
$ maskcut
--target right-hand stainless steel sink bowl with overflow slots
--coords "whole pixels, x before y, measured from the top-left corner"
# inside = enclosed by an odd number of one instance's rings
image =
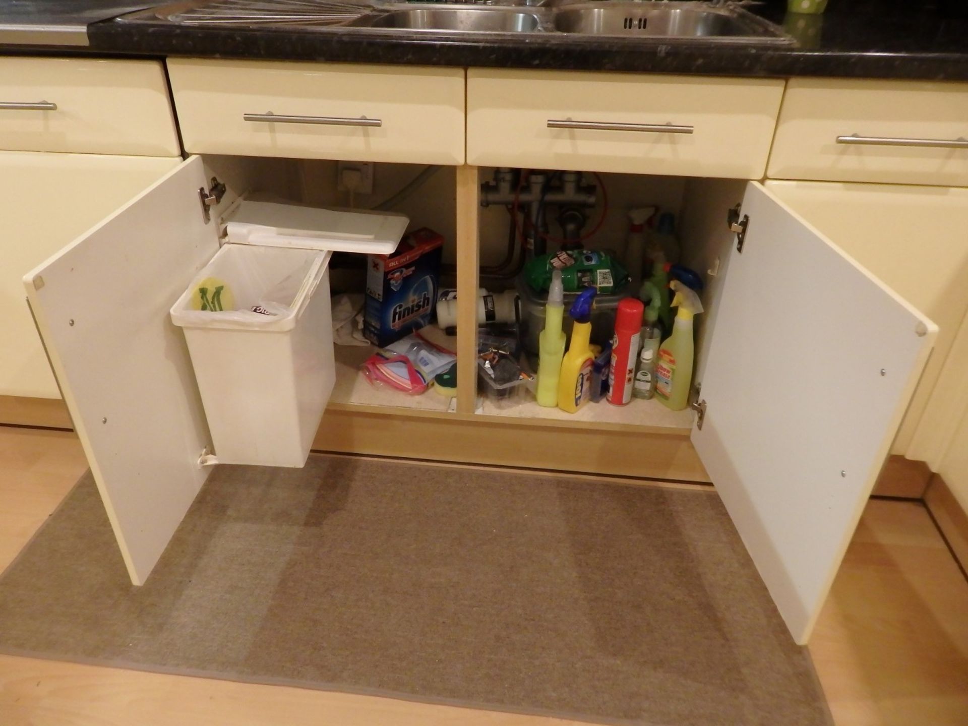
[[[690,2],[620,2],[566,5],[556,10],[555,30],[593,36],[673,39],[772,37],[769,23],[731,7]]]

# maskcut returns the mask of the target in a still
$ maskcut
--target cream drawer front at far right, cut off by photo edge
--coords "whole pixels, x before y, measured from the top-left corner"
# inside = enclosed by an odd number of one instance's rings
[[[968,83],[794,78],[774,179],[968,185]]]

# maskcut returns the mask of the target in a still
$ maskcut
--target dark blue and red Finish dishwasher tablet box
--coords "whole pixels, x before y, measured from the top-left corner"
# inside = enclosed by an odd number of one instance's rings
[[[392,255],[367,260],[363,335],[382,348],[429,325],[437,300],[443,237],[423,227]]]

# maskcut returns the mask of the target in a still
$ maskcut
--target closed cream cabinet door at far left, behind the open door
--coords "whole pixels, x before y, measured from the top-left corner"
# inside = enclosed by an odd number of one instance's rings
[[[24,302],[23,275],[180,163],[0,152],[0,396],[60,398]]]

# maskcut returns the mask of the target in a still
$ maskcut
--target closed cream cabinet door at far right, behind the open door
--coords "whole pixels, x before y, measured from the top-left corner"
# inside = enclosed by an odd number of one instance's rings
[[[964,385],[944,372],[968,315],[968,189],[809,181],[765,186],[937,323],[934,352],[891,452],[939,461],[946,435],[968,407]]]

